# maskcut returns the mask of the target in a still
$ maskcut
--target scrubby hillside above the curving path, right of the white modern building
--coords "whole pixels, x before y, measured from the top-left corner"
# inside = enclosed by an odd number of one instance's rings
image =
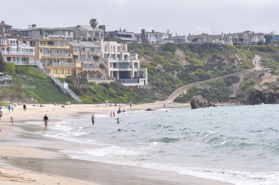
[[[156,93],[170,95],[189,83],[253,69],[253,52],[227,44],[128,44],[130,53],[139,53],[141,67],[148,68],[150,88],[132,90],[158,100]]]

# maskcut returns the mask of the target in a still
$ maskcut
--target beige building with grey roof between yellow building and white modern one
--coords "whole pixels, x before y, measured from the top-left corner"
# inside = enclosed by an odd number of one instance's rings
[[[80,63],[88,80],[106,79],[108,65],[101,59],[101,46],[93,42],[71,41],[70,53],[73,53],[73,62]]]

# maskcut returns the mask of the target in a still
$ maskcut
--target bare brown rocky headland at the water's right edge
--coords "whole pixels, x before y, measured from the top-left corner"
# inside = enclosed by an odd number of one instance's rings
[[[265,73],[261,79],[243,97],[244,105],[278,104],[279,77]]]

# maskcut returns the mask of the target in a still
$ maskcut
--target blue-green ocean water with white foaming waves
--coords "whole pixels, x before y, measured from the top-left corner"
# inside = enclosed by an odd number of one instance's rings
[[[112,110],[113,111],[113,110]],[[279,105],[67,116],[45,137],[75,142],[69,157],[174,170],[237,185],[279,184]],[[61,118],[61,117],[60,117]]]

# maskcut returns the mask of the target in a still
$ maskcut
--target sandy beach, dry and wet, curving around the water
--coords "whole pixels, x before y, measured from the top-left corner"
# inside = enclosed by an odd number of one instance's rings
[[[217,105],[231,104],[220,103]],[[22,106],[15,107],[14,111],[10,113],[8,109],[1,109],[3,111],[0,122],[0,128],[3,128],[3,131],[0,132],[2,143],[0,146],[1,184],[231,184],[190,175],[180,175],[174,171],[69,159],[67,155],[62,155],[58,150],[73,148],[75,147],[73,144],[68,146],[66,141],[34,138],[32,134],[23,132],[23,129],[32,130],[37,127],[26,126],[24,122],[40,121],[42,125],[39,126],[43,127],[42,119],[45,114],[49,116],[51,122],[60,121],[59,116],[65,115],[109,114],[108,112],[117,109],[117,107],[104,104],[65,105],[65,108],[50,104],[43,106],[27,105],[26,112],[23,111]],[[158,110],[182,107],[190,108],[190,104],[171,103],[167,104],[166,108],[163,107],[162,102],[133,105],[132,108],[130,105],[121,106],[126,111],[143,112],[148,108]],[[10,117],[15,120],[14,126],[10,123]],[[32,142],[30,142],[31,140]],[[35,140],[36,142],[34,142]],[[26,143],[36,144],[29,146]],[[78,148],[78,146],[76,147]],[[51,164],[51,168],[49,164]],[[70,164],[74,164],[71,169],[67,168],[67,165]],[[57,170],[60,173],[57,173]]]

